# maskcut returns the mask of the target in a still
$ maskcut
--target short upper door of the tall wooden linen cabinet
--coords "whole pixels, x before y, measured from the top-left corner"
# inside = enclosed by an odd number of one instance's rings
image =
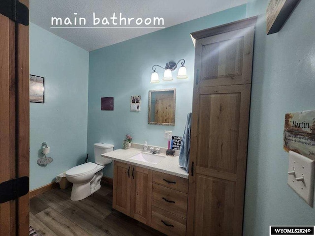
[[[196,41],[195,85],[250,84],[254,27]]]

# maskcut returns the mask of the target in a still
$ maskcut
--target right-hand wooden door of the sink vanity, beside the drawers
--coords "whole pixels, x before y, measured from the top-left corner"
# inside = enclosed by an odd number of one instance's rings
[[[132,166],[131,176],[130,216],[150,226],[153,171]]]

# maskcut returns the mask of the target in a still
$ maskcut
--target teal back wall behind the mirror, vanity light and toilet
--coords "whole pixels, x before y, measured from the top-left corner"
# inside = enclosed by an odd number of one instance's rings
[[[174,27],[158,30],[137,38],[90,52],[89,112],[87,149],[94,158],[93,144],[106,142],[115,149],[122,148],[125,134],[133,142],[167,147],[164,130],[182,136],[187,114],[192,107],[194,46],[190,32],[211,28],[246,16],[246,5],[189,21]],[[189,79],[151,84],[152,66],[165,66],[170,60],[185,59]],[[160,80],[163,70],[157,69]],[[154,89],[176,88],[175,126],[148,124],[148,92]],[[141,95],[141,111],[130,112],[129,98]],[[101,111],[100,98],[113,96],[114,111]],[[112,164],[104,169],[112,177]]]

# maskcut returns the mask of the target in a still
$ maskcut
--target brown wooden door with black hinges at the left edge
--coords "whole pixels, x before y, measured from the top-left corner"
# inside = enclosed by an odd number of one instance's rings
[[[29,27],[0,14],[0,183],[29,177],[29,110]],[[29,194],[0,204],[8,235],[29,235]]]

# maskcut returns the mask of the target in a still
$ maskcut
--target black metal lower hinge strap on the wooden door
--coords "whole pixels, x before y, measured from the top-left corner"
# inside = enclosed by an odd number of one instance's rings
[[[29,192],[29,177],[11,179],[0,183],[0,203],[16,200]]]

